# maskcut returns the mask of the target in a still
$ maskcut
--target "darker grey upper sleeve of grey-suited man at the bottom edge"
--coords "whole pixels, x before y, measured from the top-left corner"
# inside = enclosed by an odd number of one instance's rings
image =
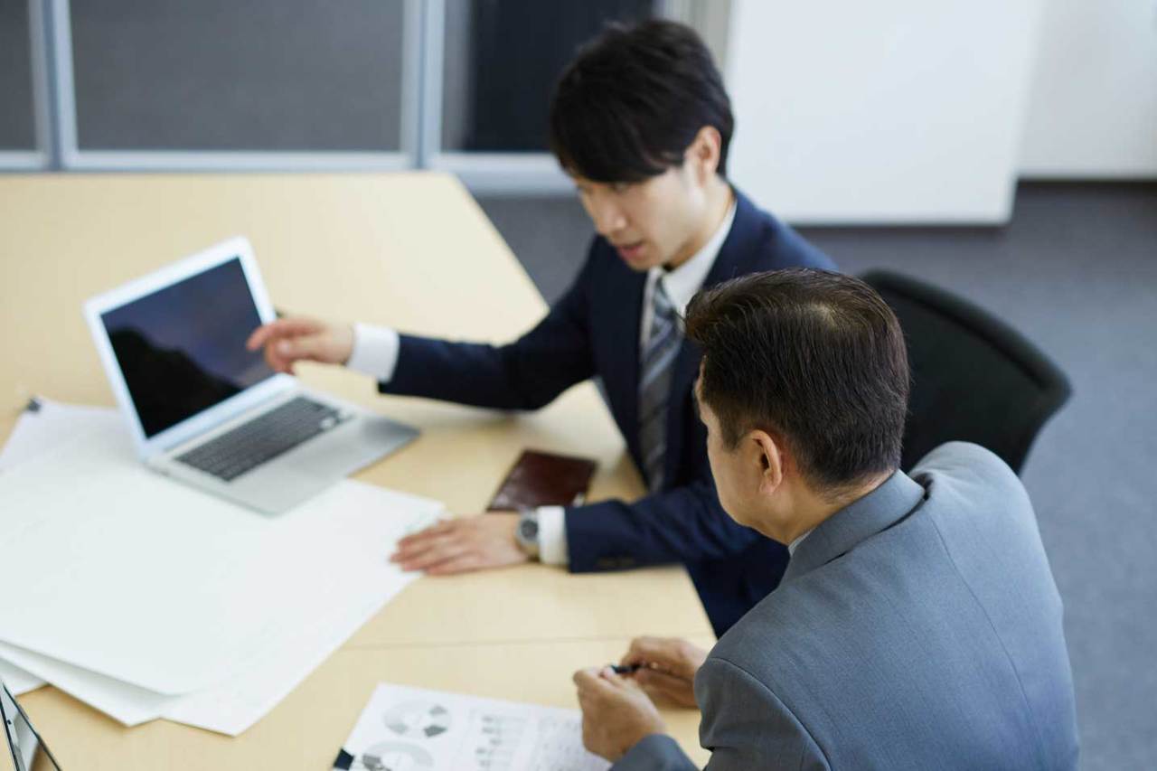
[[[736,664],[709,658],[695,676],[702,711],[699,742],[712,752],[708,771],[831,766],[791,711],[764,683]]]

